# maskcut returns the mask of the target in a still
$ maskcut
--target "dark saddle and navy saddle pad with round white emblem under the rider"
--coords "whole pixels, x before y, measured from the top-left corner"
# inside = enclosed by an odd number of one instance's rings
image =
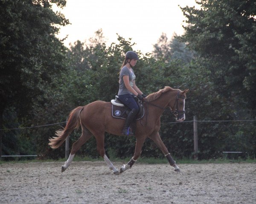
[[[136,121],[143,118],[145,114],[145,110],[142,102],[136,96],[134,96],[134,99],[137,102],[140,108],[140,111],[137,113],[137,116],[135,117],[134,121],[131,123],[129,131],[135,134]],[[115,99],[112,99],[111,103],[112,103],[112,117],[119,118],[119,119],[126,119],[131,109],[126,105],[124,105],[122,101],[118,98],[118,96],[115,96]]]

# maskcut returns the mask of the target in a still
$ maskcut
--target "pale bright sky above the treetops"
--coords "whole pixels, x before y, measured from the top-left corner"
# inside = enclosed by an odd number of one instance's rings
[[[117,35],[135,42],[133,50],[152,52],[162,33],[168,39],[173,34],[182,35],[186,18],[181,7],[197,6],[195,0],[67,0],[63,9],[58,9],[70,21],[61,27],[59,39],[64,45],[77,40],[87,41],[102,28],[107,45],[117,41]],[[56,7],[53,7],[56,10]]]

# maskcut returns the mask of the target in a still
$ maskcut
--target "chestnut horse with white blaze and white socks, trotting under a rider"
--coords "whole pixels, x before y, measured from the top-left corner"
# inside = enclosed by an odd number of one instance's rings
[[[92,136],[96,138],[97,151],[100,156],[103,157],[105,162],[108,164],[108,167],[113,170],[113,173],[116,175],[131,168],[135,161],[137,161],[140,157],[141,149],[146,138],[152,139],[166,156],[169,164],[174,167],[174,170],[176,172],[180,172],[179,167],[175,164],[175,161],[172,159],[172,156],[163,144],[158,131],[160,130],[160,116],[167,107],[170,108],[167,110],[171,111],[175,115],[176,121],[182,122],[185,120],[185,99],[187,91],[189,90],[186,89],[185,91],[180,91],[179,89],[165,87],[156,93],[148,95],[144,99],[144,104],[146,104],[146,116],[144,116],[141,121],[136,122],[137,127],[135,137],[137,140],[134,156],[127,164],[124,164],[120,170],[117,170],[116,167],[113,166],[105,154],[104,137],[105,132],[113,135],[122,135],[121,131],[125,120],[112,117],[111,102],[95,101],[83,107],[79,106],[75,108],[70,113],[66,127],[62,130],[56,131],[57,137],[49,139],[49,146],[53,149],[58,148],[65,141],[67,136],[76,127],[78,128],[81,125],[81,137],[73,143],[70,156],[62,166],[61,172],[70,166],[76,151],[79,150],[80,147]]]

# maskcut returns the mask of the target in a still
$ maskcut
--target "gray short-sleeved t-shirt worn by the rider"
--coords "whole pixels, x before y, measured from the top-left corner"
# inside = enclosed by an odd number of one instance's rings
[[[131,73],[131,71],[132,71],[132,73]],[[123,76],[129,76],[130,85],[131,85],[131,87],[133,87],[134,80],[135,80],[136,76],[134,74],[133,69],[131,69],[131,71],[129,71],[129,69],[126,66],[124,66],[121,69],[120,75],[119,75],[119,91],[118,91],[118,95],[132,94],[125,87],[125,82],[124,82],[124,79],[123,79]]]

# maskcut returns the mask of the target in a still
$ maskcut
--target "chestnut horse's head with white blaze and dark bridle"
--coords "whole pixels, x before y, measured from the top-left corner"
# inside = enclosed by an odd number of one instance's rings
[[[189,89],[184,91],[177,91],[177,96],[174,105],[169,105],[173,114],[176,117],[176,121],[183,122],[185,120],[185,99],[186,93]]]

